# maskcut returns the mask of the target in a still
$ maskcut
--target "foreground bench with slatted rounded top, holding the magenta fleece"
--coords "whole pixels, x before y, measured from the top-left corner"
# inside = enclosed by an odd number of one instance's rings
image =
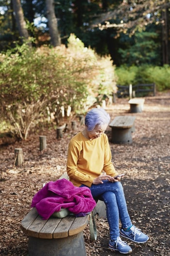
[[[69,179],[64,173],[59,179]],[[105,204],[98,201],[95,213],[102,209],[102,217],[106,217]],[[89,215],[63,218],[50,217],[43,220],[35,208],[21,221],[22,231],[29,236],[29,256],[86,256],[83,230],[89,222]]]

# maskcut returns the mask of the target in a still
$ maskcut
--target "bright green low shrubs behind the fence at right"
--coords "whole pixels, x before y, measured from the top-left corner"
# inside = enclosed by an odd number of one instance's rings
[[[132,85],[139,83],[155,83],[157,91],[170,89],[170,66],[120,66],[115,69],[117,84]]]

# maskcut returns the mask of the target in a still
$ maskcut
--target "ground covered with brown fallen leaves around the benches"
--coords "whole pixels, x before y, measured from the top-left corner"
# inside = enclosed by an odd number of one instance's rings
[[[133,223],[150,239],[145,244],[128,242],[133,256],[170,255],[170,92],[146,97],[142,113],[129,113],[128,99],[117,99],[108,106],[113,119],[119,115],[135,116],[136,131],[131,145],[112,144],[113,163],[122,178],[129,214]],[[66,171],[70,138],[83,127],[78,119],[63,138],[45,129],[27,141],[0,140],[0,255],[28,256],[28,237],[20,228],[29,212],[32,197],[43,183],[56,180]],[[69,125],[68,125],[69,127]],[[106,131],[111,138],[111,128]],[[39,151],[39,135],[47,136],[47,150]],[[7,142],[5,145],[4,142]],[[24,165],[15,167],[15,148],[22,148]],[[109,229],[106,219],[96,218],[98,239],[89,240],[85,228],[87,256],[119,256],[108,250]]]

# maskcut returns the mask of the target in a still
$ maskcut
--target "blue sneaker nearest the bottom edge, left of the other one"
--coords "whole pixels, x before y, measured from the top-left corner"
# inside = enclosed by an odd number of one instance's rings
[[[113,252],[118,251],[121,254],[132,253],[132,248],[125,241],[122,241],[120,237],[117,237],[116,241],[110,240],[109,249]]]

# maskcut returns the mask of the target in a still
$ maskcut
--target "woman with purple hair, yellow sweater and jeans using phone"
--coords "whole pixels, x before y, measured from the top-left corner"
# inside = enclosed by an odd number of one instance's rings
[[[110,116],[104,109],[91,109],[85,117],[85,129],[69,142],[67,172],[74,186],[87,186],[94,198],[106,204],[110,229],[109,249],[122,254],[132,252],[120,236],[137,243],[149,237],[137,229],[129,217],[120,177],[111,162],[111,150],[104,131]],[[119,219],[121,229],[119,230]]]

